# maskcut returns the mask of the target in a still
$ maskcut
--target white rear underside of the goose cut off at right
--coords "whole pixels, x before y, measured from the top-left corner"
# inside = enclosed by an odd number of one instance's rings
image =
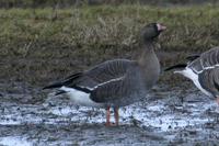
[[[182,74],[183,76],[185,76],[186,78],[191,79],[194,85],[201,91],[204,92],[206,96],[211,96],[210,92],[208,92],[207,90],[205,90],[198,80],[198,74],[195,74],[191,68],[186,67],[184,70],[182,71],[175,71],[176,74]]]

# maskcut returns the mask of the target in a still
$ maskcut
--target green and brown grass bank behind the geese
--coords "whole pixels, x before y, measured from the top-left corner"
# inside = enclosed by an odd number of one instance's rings
[[[150,22],[168,26],[162,52],[204,52],[219,45],[218,15],[214,5],[1,9],[0,78],[42,85],[106,59],[130,58]]]

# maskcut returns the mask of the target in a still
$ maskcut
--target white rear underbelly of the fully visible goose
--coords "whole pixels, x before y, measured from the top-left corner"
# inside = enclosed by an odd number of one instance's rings
[[[66,91],[70,100],[78,105],[94,108],[102,108],[104,105],[103,103],[96,103],[93,100],[91,100],[90,93],[68,87],[61,87],[60,90]]]

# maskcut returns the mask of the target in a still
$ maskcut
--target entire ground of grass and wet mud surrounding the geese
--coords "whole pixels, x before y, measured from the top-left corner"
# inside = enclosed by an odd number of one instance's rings
[[[168,26],[157,44],[162,67],[218,46],[217,5],[54,10],[0,12],[0,145],[219,145],[219,106],[171,74],[145,101],[122,108],[117,127],[104,126],[103,109],[41,90],[104,60],[138,57],[148,22]]]

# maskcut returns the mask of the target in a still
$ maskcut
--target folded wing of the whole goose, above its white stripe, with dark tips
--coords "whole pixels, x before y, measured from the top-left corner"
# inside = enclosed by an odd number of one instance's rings
[[[66,86],[89,92],[101,83],[123,77],[127,69],[134,64],[135,61],[128,59],[108,60],[94,66],[84,72],[73,74],[62,81],[44,87],[44,89],[60,88]]]

